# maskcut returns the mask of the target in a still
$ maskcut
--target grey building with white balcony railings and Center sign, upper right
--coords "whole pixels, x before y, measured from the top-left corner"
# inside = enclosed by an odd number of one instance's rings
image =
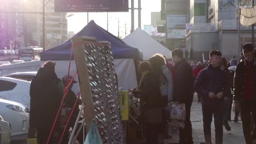
[[[208,59],[216,49],[230,59],[239,56],[241,46],[251,43],[251,27],[240,25],[237,0],[190,0],[186,46],[194,60]]]

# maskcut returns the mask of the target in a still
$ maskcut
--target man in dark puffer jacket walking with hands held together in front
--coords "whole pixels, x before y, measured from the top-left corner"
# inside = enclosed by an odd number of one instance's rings
[[[221,52],[210,52],[211,64],[195,80],[195,91],[202,95],[203,130],[206,144],[211,144],[211,122],[214,116],[216,144],[223,141],[223,96],[229,91],[226,73],[221,70]]]

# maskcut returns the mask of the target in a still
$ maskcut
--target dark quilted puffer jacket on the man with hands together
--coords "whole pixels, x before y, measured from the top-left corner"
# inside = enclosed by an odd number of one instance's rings
[[[202,95],[203,104],[220,104],[223,99],[211,99],[209,93],[218,94],[223,92],[223,96],[230,91],[227,73],[220,68],[215,68],[211,64],[203,69],[195,80],[195,91]]]

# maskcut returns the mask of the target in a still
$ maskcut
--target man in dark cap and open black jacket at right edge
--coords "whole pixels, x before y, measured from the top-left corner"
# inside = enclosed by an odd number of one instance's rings
[[[253,144],[256,139],[256,130],[251,136],[251,112],[256,120],[256,57],[253,56],[253,45],[247,43],[243,45],[243,55],[245,60],[237,64],[234,77],[234,100],[235,111],[241,109],[243,122],[243,133],[246,144]]]

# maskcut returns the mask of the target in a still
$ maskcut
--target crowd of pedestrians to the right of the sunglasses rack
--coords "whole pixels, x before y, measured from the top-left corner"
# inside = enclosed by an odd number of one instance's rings
[[[246,144],[256,140],[256,129],[251,133],[256,121],[256,55],[253,45],[243,45],[239,62],[235,57],[227,61],[220,51],[211,51],[209,61],[192,61],[183,58],[183,52],[171,52],[174,64],[166,63],[161,54],[153,56],[149,62],[141,63],[140,91],[144,101],[144,120],[147,131],[147,144],[163,144],[164,127],[167,126],[168,105],[171,102],[185,104],[185,128],[179,129],[179,143],[193,144],[190,109],[194,92],[202,103],[203,132],[206,144],[212,144],[211,123],[214,117],[216,144],[223,143],[223,125],[227,131],[231,121],[233,101],[235,101],[234,122],[241,113]],[[142,71],[144,63],[149,67]],[[150,117],[147,116],[150,113]],[[155,118],[150,121],[149,118]],[[159,119],[160,118],[160,119]],[[253,121],[255,120],[255,121]],[[160,129],[158,129],[160,128]],[[149,132],[150,131],[150,132]]]

